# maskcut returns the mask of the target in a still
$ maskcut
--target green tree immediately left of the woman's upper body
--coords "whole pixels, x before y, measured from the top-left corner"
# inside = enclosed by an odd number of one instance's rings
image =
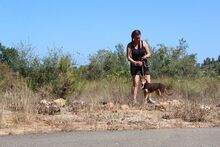
[[[90,55],[87,70],[88,79],[98,79],[109,75],[127,76],[129,64],[126,51],[122,44],[115,46],[115,50],[101,49]]]

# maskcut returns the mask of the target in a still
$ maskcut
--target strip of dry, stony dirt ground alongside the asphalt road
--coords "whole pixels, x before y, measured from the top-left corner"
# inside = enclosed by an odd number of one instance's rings
[[[111,102],[88,105],[77,102],[59,113],[29,114],[4,110],[0,115],[0,135],[47,133],[55,131],[132,130],[156,128],[203,128],[220,126],[220,108],[184,107],[173,100],[139,106]],[[193,107],[193,108],[192,108]],[[188,108],[190,112],[187,112]],[[201,111],[201,112],[200,112]],[[195,114],[194,114],[195,113]]]

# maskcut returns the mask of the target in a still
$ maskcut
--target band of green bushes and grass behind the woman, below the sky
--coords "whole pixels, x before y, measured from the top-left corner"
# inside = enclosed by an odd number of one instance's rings
[[[184,39],[179,41],[177,47],[160,44],[157,48],[150,48],[153,81],[157,79],[164,82],[168,89],[174,90],[182,98],[218,97],[220,57],[218,60],[207,58],[200,66],[196,61],[196,54],[187,53],[188,45]],[[34,55],[32,50],[31,45],[23,43],[17,48],[0,44],[0,60],[4,67],[9,67],[17,77],[21,76],[35,92],[44,89],[51,97],[75,98],[85,92],[84,88],[88,82],[99,83],[105,79],[104,83],[110,83],[107,87],[107,90],[111,91],[109,94],[116,93],[115,97],[119,98],[118,91],[124,92],[131,86],[129,62],[122,44],[116,45],[115,50],[98,50],[90,55],[87,65],[80,67],[75,66],[71,55],[63,54],[61,50],[50,50],[49,54],[42,58]],[[0,86],[7,85],[3,80],[6,75],[2,74],[3,72],[4,70],[1,70]],[[123,89],[123,86],[127,88]],[[105,90],[105,93],[108,92]],[[123,95],[126,96],[127,93]]]

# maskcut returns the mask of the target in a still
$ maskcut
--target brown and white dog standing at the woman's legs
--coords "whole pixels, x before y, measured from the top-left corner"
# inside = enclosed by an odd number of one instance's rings
[[[166,89],[166,86],[162,83],[148,83],[148,81],[144,78],[141,77],[141,84],[142,84],[142,89],[144,90],[146,97],[148,97],[148,95],[150,93],[155,92],[157,95],[159,96],[170,96],[172,95],[172,93],[169,93]]]

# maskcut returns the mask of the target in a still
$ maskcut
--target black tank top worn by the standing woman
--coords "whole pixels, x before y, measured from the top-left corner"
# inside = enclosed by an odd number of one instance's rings
[[[146,55],[146,50],[143,46],[143,41],[141,40],[142,47],[140,47],[140,43],[138,43],[138,49],[135,49],[134,42],[131,42],[131,52],[132,52],[132,59],[134,61],[141,61],[141,58]]]

